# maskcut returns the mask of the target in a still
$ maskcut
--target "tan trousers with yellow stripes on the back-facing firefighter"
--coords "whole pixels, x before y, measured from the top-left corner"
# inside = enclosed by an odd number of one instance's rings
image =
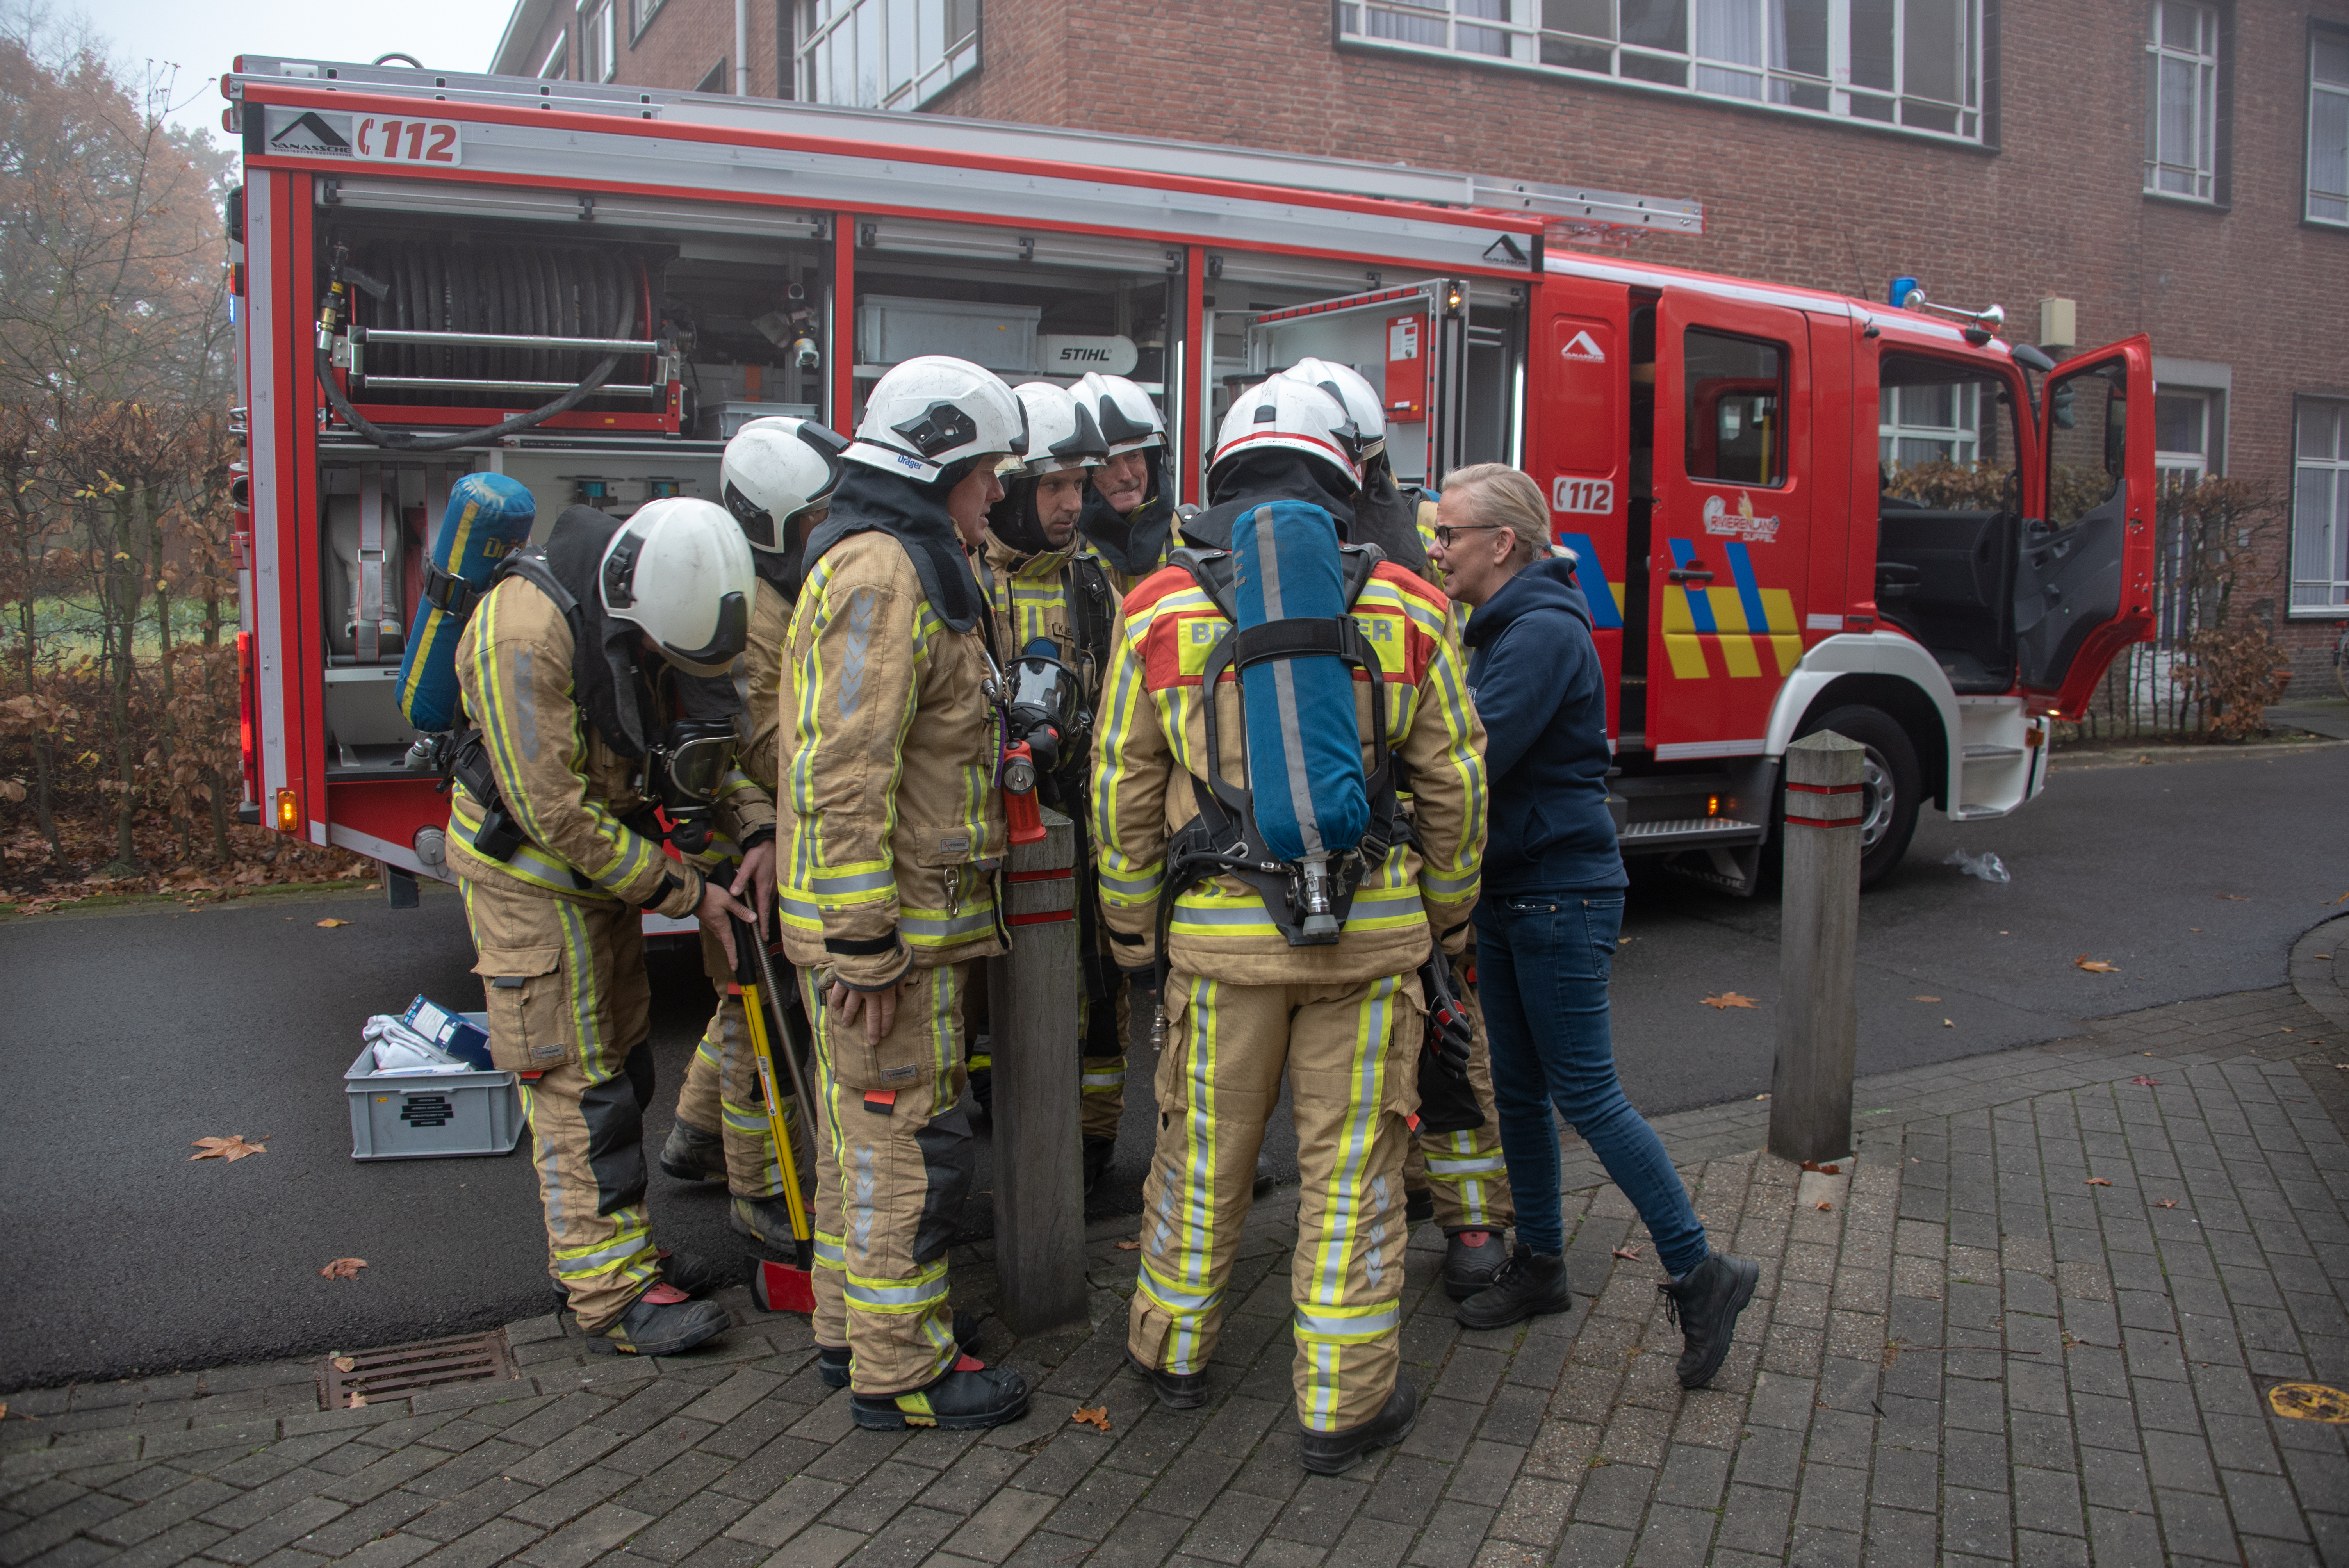
[[[1386,1406],[1400,1366],[1419,981],[1238,986],[1177,965],[1165,1002],[1128,1350],[1174,1373],[1214,1354],[1264,1120],[1287,1075],[1304,1183],[1290,1261],[1297,1415],[1313,1432],[1358,1427]]]

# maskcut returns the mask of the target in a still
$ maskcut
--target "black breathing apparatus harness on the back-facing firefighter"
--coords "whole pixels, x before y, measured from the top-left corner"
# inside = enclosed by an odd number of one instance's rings
[[[1167,930],[1174,925],[1174,901],[1193,885],[1212,876],[1231,876],[1264,899],[1264,911],[1287,937],[1292,948],[1330,946],[1339,939],[1346,915],[1353,911],[1353,894],[1362,878],[1386,864],[1388,852],[1405,843],[1412,822],[1398,798],[1398,772],[1393,749],[1386,742],[1386,702],[1377,688],[1379,655],[1362,638],[1353,622],[1353,603],[1369,584],[1369,573],[1384,559],[1374,545],[1339,547],[1346,582],[1346,615],[1313,615],[1273,620],[1261,627],[1238,629],[1233,608],[1233,554],[1229,549],[1177,549],[1167,563],[1191,573],[1203,594],[1233,622],[1200,671],[1200,716],[1205,721],[1205,777],[1191,775],[1191,793],[1198,800],[1193,817],[1167,843],[1167,878],[1158,892],[1158,986],[1167,974]],[[1365,779],[1369,800],[1369,824],[1353,845],[1325,859],[1285,861],[1264,843],[1257,826],[1257,803],[1250,789],[1224,779],[1224,753],[1217,723],[1217,683],[1224,671],[1233,674],[1233,692],[1240,697],[1245,723],[1247,695],[1238,674],[1250,664],[1271,660],[1330,655],[1344,660],[1372,678],[1369,746],[1372,770]]]

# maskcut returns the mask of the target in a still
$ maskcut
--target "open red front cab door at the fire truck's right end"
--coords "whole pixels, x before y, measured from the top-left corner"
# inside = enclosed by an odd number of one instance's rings
[[[2154,345],[2145,333],[2065,359],[2039,399],[2015,563],[2015,681],[2060,718],[2154,627]]]

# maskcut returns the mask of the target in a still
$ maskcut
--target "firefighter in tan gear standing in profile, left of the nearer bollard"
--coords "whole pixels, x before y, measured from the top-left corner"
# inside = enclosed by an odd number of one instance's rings
[[[1005,951],[996,660],[965,549],[1027,448],[996,376],[940,354],[871,390],[792,610],[785,951],[815,1021],[815,1343],[860,1427],[994,1427],[1027,1383],[961,1352],[963,995]]]

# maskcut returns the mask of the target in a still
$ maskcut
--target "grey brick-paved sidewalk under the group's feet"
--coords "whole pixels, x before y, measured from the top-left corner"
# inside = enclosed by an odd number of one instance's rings
[[[987,1345],[1041,1385],[989,1434],[853,1432],[806,1324],[747,1305],[721,1352],[662,1364],[514,1324],[521,1380],[364,1411],[319,1411],[310,1361],[19,1394],[0,1568],[2349,1561],[2349,1427],[2264,1404],[2349,1383],[2328,1033],[2279,988],[1863,1080],[1839,1176],[1755,1155],[1762,1106],[1665,1120],[1708,1225],[1764,1265],[1701,1394],[1647,1235],[1576,1155],[1593,1296],[1463,1333],[1421,1235],[1419,1430],[1341,1479],[1297,1467],[1283,1192],[1205,1411],[1120,1371],[1132,1253],[1097,1235],[1099,1331]],[[987,1268],[958,1261],[963,1298]],[[1113,1430],[1071,1425],[1081,1401]]]

